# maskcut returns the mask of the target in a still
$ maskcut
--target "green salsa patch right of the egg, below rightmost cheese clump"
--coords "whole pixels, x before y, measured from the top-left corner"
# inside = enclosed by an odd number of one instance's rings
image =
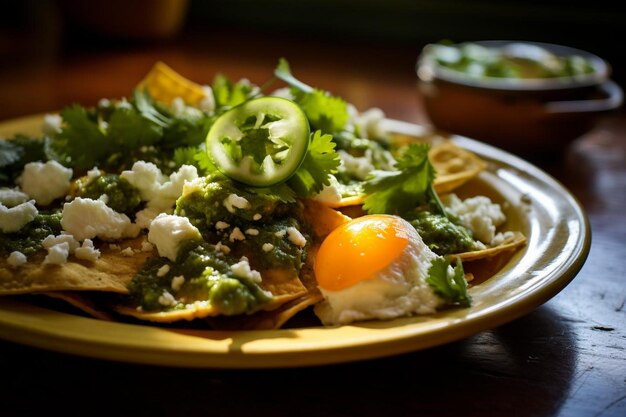
[[[470,231],[454,224],[446,216],[421,211],[416,213],[409,223],[437,255],[461,253],[474,248],[475,243]]]

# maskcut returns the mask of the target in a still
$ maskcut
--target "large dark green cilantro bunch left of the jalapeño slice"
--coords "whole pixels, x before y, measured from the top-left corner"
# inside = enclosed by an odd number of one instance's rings
[[[73,105],[61,111],[63,126],[51,137],[50,149],[63,165],[84,172],[94,166],[118,171],[135,160],[171,169],[176,149],[204,141],[213,117],[200,111],[174,116],[136,90],[130,102],[88,110]]]

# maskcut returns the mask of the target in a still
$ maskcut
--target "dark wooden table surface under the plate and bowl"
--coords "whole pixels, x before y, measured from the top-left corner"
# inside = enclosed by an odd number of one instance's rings
[[[70,50],[3,66],[0,120],[128,95],[157,60],[204,83],[217,72],[263,83],[284,56],[299,78],[360,109],[427,123],[415,90],[418,52],[226,31]],[[531,160],[582,202],[593,243],[565,290],[509,324],[397,357],[262,371],[112,363],[0,342],[0,414],[624,416],[625,161],[624,113],[559,158]]]

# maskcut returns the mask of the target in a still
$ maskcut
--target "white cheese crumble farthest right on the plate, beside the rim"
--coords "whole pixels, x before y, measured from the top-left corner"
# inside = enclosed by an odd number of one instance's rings
[[[488,245],[494,240],[496,227],[506,221],[500,206],[485,196],[461,200],[456,194],[448,194],[443,196],[442,203],[472,231],[475,239]]]

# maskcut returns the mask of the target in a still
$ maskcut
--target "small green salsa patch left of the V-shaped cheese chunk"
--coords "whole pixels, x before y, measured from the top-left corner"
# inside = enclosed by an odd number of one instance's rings
[[[140,204],[139,190],[117,174],[101,175],[82,185],[78,183],[78,197],[97,200],[106,195],[106,205],[118,213],[134,214]]]

